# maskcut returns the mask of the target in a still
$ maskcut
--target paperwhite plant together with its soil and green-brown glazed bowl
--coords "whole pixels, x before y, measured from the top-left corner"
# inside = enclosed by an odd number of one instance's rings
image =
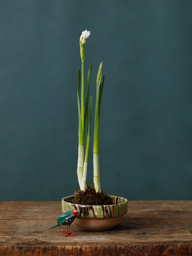
[[[85,230],[106,230],[117,225],[127,212],[127,199],[120,196],[108,196],[100,188],[99,175],[99,123],[102,92],[104,88],[104,74],[102,62],[99,66],[96,81],[95,120],[93,132],[93,186],[86,184],[88,168],[88,151],[90,145],[92,97],[90,84],[92,77],[92,64],[88,68],[86,98],[84,99],[84,45],[90,36],[90,31],[83,31],[79,40],[81,70],[77,76],[77,106],[79,116],[79,147],[77,161],[77,177],[79,189],[73,196],[67,196],[61,200],[63,212],[77,209],[74,225]],[[81,91],[81,93],[80,93]],[[81,97],[80,97],[81,96]],[[86,138],[86,144],[85,142]],[[85,152],[84,152],[85,150]]]

